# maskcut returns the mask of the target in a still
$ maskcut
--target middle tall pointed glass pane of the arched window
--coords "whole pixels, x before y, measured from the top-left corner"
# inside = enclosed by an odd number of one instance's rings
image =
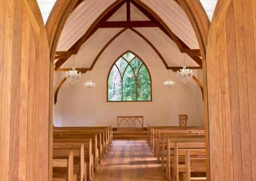
[[[136,101],[136,79],[129,65],[123,77],[123,101]]]

